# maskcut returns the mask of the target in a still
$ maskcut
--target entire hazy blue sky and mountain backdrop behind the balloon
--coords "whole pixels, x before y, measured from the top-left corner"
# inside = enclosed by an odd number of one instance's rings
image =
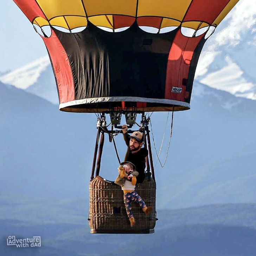
[[[240,0],[208,39],[191,110],[174,113],[164,168],[154,154],[151,235],[89,234],[96,116],[58,110],[43,40],[14,2],[0,3],[0,17],[0,255],[125,255],[127,243],[130,255],[255,255],[255,3]],[[151,116],[157,149],[166,119]],[[116,143],[122,159],[122,137]],[[114,180],[107,140],[102,161],[101,175]],[[41,236],[42,247],[7,247],[9,235]]]

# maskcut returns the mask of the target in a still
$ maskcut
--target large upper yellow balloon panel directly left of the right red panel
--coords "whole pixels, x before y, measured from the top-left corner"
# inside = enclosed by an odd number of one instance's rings
[[[191,0],[140,0],[137,17],[158,16],[182,21],[190,3]]]

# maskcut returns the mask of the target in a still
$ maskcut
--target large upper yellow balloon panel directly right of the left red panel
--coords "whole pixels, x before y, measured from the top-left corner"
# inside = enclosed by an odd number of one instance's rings
[[[65,15],[85,16],[81,0],[37,0],[48,20]]]

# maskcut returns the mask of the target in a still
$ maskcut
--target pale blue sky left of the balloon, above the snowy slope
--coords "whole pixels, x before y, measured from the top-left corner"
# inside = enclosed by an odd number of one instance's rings
[[[14,1],[0,1],[0,17],[0,72],[19,68],[47,55],[43,40]]]

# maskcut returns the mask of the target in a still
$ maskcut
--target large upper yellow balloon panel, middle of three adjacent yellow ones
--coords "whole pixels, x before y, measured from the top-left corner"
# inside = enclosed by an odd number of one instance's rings
[[[121,14],[135,17],[137,0],[83,0],[88,17]]]

